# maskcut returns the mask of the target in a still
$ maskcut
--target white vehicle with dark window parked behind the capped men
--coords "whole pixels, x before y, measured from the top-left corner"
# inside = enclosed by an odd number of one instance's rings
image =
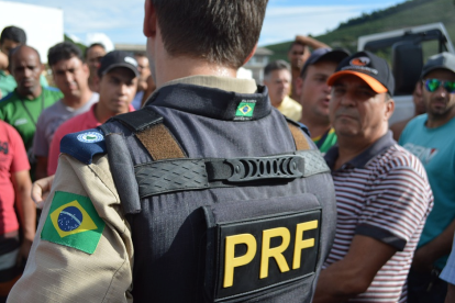
[[[396,81],[396,110],[390,124],[413,115],[412,91],[426,59],[442,52],[455,54],[451,37],[442,23],[360,36],[358,50],[369,50],[387,59]]]

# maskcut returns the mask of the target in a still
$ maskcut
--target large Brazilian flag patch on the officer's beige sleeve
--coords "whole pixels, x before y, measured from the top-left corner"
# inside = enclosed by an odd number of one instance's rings
[[[90,199],[56,191],[41,238],[91,255],[97,249],[104,225]]]

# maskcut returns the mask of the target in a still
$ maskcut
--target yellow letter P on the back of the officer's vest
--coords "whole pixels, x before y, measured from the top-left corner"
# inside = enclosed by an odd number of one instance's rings
[[[235,258],[235,245],[245,244],[246,254]],[[256,239],[251,234],[242,234],[226,237],[224,254],[224,283],[223,288],[230,288],[234,283],[234,268],[249,263],[256,255]]]

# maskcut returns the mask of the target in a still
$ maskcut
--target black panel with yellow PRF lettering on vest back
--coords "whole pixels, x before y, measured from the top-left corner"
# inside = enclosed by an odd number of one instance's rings
[[[204,285],[210,302],[249,302],[255,296],[262,302],[257,296],[270,288],[286,290],[292,282],[313,279],[321,237],[321,204],[315,195],[202,209],[209,227]]]

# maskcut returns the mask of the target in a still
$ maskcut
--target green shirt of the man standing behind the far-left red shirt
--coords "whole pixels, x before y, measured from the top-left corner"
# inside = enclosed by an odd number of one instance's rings
[[[43,88],[40,97],[29,100],[21,99],[18,91],[0,101],[0,119],[11,124],[21,135],[25,149],[33,145],[36,122],[41,112],[63,98],[63,93],[52,87]]]

